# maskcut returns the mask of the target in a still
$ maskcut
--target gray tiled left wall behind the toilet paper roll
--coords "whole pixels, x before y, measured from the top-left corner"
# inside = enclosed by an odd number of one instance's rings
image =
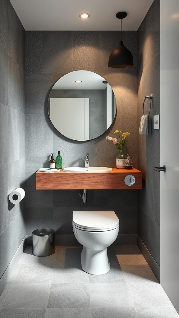
[[[25,237],[25,199],[11,204],[14,189],[25,190],[25,30],[11,2],[0,1],[0,279]],[[13,270],[13,269],[12,269]],[[10,275],[10,271],[8,271]],[[0,291],[9,276],[0,280]]]

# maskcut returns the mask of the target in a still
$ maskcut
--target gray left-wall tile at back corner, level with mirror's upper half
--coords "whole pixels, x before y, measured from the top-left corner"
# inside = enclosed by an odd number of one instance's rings
[[[24,71],[8,57],[8,106],[25,113]]]

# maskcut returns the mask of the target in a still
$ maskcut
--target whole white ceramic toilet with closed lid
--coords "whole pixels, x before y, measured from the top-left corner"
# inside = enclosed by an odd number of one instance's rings
[[[82,269],[89,274],[109,272],[107,247],[118,236],[119,219],[114,211],[73,211],[73,232],[83,245]]]

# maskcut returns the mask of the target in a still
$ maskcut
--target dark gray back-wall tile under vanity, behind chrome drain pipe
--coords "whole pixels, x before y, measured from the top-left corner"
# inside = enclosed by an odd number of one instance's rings
[[[79,196],[79,193],[82,192],[82,189],[79,190],[54,190],[53,206],[54,207],[78,207],[82,209],[84,203],[82,198]],[[94,206],[94,190],[87,190],[87,202],[85,208]]]

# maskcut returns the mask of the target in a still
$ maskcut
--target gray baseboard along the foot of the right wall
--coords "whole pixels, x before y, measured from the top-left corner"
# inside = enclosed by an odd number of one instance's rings
[[[157,280],[160,283],[160,267],[155,262],[153,256],[148,251],[146,245],[142,242],[139,235],[137,237],[137,245],[140,249],[140,252],[143,254],[144,258],[146,259],[148,265],[150,266],[151,270],[153,271],[154,275],[156,276]]]

